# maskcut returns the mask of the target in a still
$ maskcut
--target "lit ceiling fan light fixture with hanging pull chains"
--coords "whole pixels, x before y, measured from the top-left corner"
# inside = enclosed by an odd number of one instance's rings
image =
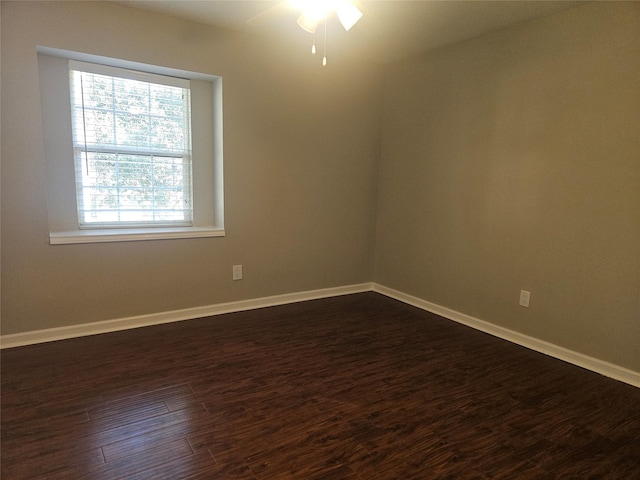
[[[304,31],[313,34],[311,53],[316,53],[316,30],[320,22],[324,22],[324,55],[322,65],[327,64],[327,15],[335,12],[340,24],[346,31],[351,30],[362,17],[362,12],[350,0],[290,0],[291,4],[302,10],[298,17],[298,25]]]

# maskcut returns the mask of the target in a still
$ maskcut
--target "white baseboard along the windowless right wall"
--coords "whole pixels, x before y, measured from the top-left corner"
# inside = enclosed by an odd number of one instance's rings
[[[588,355],[574,352],[573,350],[554,345],[553,343],[545,342],[544,340],[485,322],[484,320],[422,300],[421,298],[402,293],[398,290],[393,290],[377,283],[373,284],[373,291],[386,295],[387,297],[395,298],[396,300],[413,305],[414,307],[418,307],[422,310],[435,313],[436,315],[453,320],[454,322],[462,323],[495,337],[535,350],[536,352],[544,353],[550,357],[572,363],[573,365],[586,368],[587,370],[628,383],[629,385],[640,387],[640,372],[629,370],[619,365],[589,357]]]

